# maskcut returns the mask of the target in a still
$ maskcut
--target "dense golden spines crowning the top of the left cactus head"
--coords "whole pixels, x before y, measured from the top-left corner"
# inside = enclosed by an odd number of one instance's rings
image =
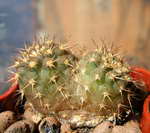
[[[29,45],[29,44],[28,44]],[[53,54],[53,49],[56,47],[56,44],[54,44],[53,40],[47,40],[47,41],[43,41],[43,42],[38,42],[35,41],[33,44],[31,44],[30,46],[25,45],[24,49],[21,49],[20,52],[20,57],[18,57],[15,61],[15,64],[11,67],[20,67],[20,65],[28,65],[28,67],[30,68],[34,68],[37,64],[36,57],[38,56],[51,56]],[[60,45],[57,46],[60,50],[66,50],[68,47],[67,45]],[[53,59],[49,59],[46,62],[46,65],[48,67],[54,67],[53,63],[55,62],[55,60]],[[69,62],[66,60],[64,63],[68,63]]]

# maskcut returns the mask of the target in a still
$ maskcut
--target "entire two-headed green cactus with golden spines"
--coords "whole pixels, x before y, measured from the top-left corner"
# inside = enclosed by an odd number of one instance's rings
[[[121,56],[102,47],[78,61],[66,46],[35,41],[13,65],[20,93],[35,109],[43,114],[82,110],[107,118],[133,111],[141,93]]]

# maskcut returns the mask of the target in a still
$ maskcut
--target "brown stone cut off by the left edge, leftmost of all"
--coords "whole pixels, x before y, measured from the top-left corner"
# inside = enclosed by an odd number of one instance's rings
[[[4,133],[12,123],[16,121],[16,116],[11,111],[5,111],[0,113],[0,133]]]

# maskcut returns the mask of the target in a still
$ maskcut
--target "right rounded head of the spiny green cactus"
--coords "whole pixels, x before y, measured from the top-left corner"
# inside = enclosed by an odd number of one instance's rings
[[[106,117],[116,114],[121,118],[125,112],[133,112],[134,101],[141,94],[136,94],[140,88],[130,77],[129,65],[105,46],[80,59],[75,80],[77,91],[84,92],[80,97],[83,108]]]

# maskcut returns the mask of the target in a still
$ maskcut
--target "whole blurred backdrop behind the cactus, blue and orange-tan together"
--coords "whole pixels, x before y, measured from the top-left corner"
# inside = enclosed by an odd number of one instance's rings
[[[132,65],[150,68],[150,0],[0,0],[0,82],[18,48],[35,35],[92,49],[119,46]]]

